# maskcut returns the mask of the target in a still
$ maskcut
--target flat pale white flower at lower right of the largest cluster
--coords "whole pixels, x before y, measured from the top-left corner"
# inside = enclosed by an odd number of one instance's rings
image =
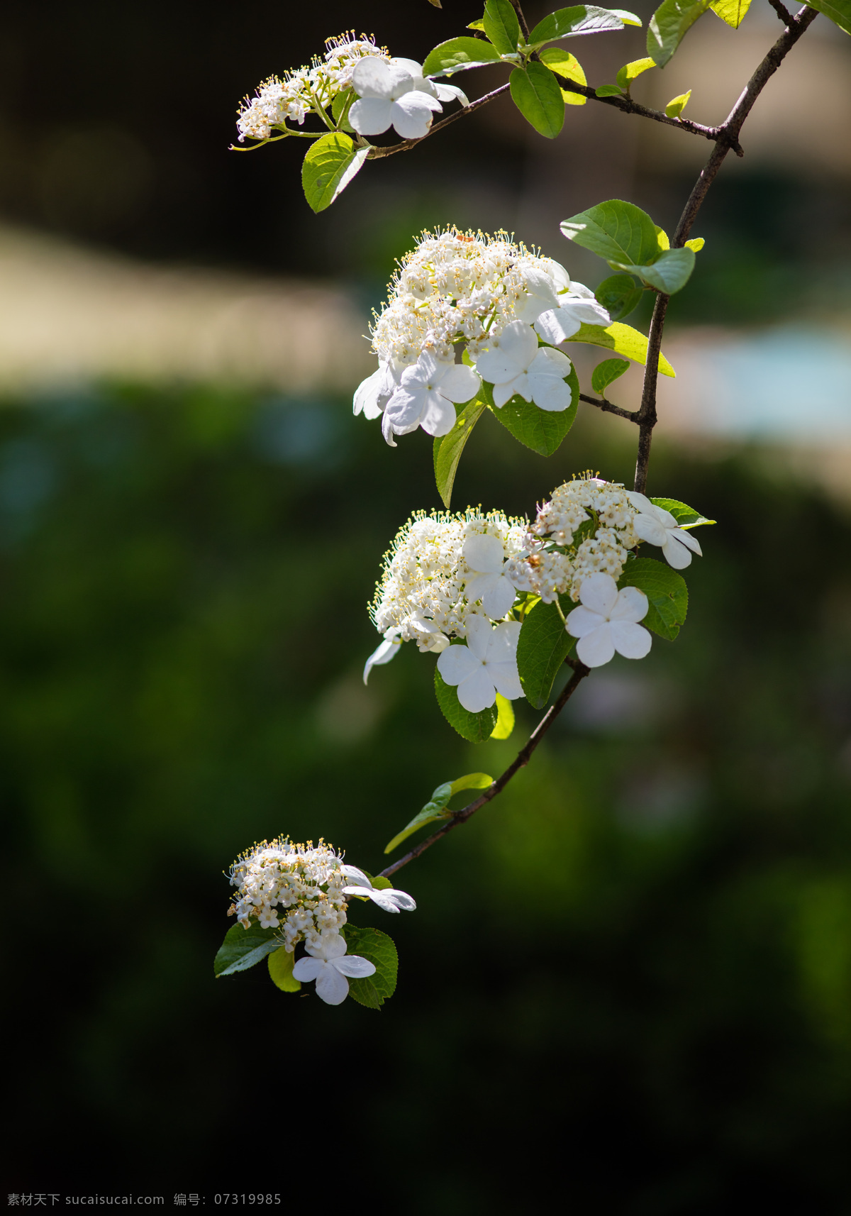
[[[502,406],[515,393],[541,410],[567,410],[570,388],[564,377],[570,360],[560,350],[537,345],[535,331],[523,321],[512,321],[488,343],[475,361],[483,379],[494,385],[494,404]]]

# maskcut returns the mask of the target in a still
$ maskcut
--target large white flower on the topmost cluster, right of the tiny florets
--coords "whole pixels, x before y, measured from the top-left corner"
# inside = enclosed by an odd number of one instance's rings
[[[367,56],[351,73],[359,96],[349,122],[359,135],[381,135],[394,126],[404,140],[421,140],[432,125],[432,111],[443,106],[436,97],[415,86],[405,68]]]

